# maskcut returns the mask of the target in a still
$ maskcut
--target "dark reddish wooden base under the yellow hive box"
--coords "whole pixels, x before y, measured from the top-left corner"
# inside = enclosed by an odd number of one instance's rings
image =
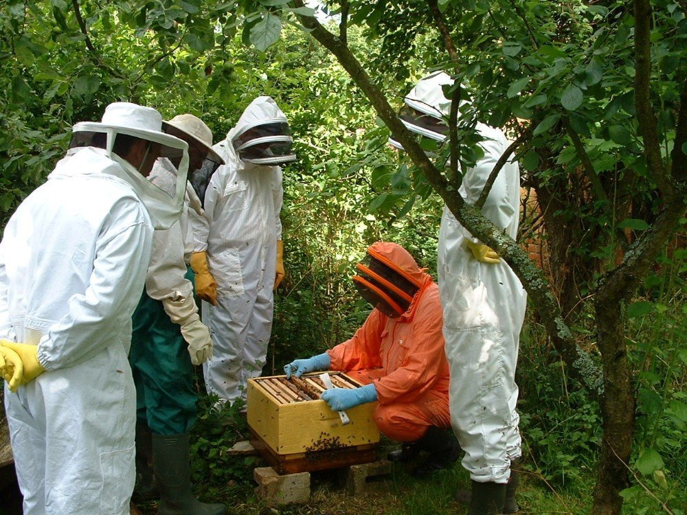
[[[297,474],[328,470],[349,465],[359,465],[376,461],[377,444],[365,444],[331,450],[312,450],[306,453],[279,455],[250,428],[251,444],[258,453],[278,472],[278,474]]]

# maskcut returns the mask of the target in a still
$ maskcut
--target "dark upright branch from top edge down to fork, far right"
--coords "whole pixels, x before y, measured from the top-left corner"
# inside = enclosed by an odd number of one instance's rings
[[[675,189],[666,177],[661,159],[656,116],[651,106],[651,4],[650,0],[634,0],[635,18],[635,110],[640,133],[644,140],[644,153],[649,172],[654,176],[666,197],[675,195]]]

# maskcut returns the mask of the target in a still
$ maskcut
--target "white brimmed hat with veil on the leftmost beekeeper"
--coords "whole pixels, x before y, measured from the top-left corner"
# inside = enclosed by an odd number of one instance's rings
[[[138,168],[121,157],[126,155],[126,144],[131,138],[147,142]],[[129,102],[109,104],[101,122],[79,122],[72,128],[69,152],[85,146],[99,149],[121,165],[125,172],[122,179],[133,186],[155,229],[169,229],[179,219],[188,171],[188,144],[162,131],[162,117],[155,109]],[[158,153],[159,157],[179,163],[164,181],[148,176],[149,170],[143,170],[148,157],[156,157]]]

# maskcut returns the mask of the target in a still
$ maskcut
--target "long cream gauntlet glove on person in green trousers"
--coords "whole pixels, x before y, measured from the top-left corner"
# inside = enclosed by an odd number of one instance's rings
[[[203,325],[198,316],[198,306],[193,297],[177,297],[177,300],[162,299],[162,306],[173,323],[181,325],[181,335],[188,343],[191,363],[201,365],[212,358],[212,339],[210,330]]]

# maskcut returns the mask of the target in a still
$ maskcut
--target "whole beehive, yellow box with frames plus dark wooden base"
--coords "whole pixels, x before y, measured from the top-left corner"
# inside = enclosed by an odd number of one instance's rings
[[[334,386],[362,386],[343,372],[330,372]],[[344,425],[319,394],[326,389],[319,374],[300,380],[260,377],[248,382],[251,442],[280,474],[324,470],[374,461],[379,430],[376,402],[346,411]]]

